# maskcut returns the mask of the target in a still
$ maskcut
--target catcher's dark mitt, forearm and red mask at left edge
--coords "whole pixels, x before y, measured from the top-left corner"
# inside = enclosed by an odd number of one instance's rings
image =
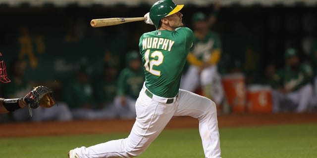
[[[2,56],[1,53],[0,56]],[[0,61],[0,81],[3,83],[8,83],[11,81],[7,77],[5,64],[3,60]],[[55,104],[55,100],[52,97],[52,93],[53,91],[46,86],[37,86],[33,88],[33,90],[26,94],[26,96],[23,98],[0,98],[0,114],[14,112],[27,105],[29,105],[29,107],[32,109],[36,109],[39,106],[51,108]],[[32,116],[31,109],[30,115]]]

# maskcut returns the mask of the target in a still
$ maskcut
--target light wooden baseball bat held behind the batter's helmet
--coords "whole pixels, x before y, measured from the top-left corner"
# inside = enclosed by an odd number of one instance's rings
[[[97,28],[97,27],[119,25],[119,24],[123,24],[123,23],[129,23],[129,22],[134,22],[134,21],[144,21],[144,20],[146,20],[145,17],[93,19],[90,22],[90,25],[94,28]]]

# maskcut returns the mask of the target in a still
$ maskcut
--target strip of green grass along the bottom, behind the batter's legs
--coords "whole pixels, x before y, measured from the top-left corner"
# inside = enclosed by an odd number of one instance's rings
[[[66,158],[128,133],[0,138],[0,158]],[[221,128],[222,158],[317,158],[317,124]],[[164,130],[139,158],[204,158],[198,129]]]

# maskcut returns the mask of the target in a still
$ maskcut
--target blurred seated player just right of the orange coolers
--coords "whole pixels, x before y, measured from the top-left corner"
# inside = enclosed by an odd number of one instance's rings
[[[278,70],[270,84],[274,88],[273,112],[307,112],[313,99],[313,70],[300,63],[297,51],[289,48],[285,52],[285,67]]]

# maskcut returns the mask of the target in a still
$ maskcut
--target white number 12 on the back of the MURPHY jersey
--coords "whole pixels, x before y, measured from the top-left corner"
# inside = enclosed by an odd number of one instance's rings
[[[144,59],[145,59],[145,64],[144,64],[144,67],[145,67],[145,70],[150,72],[151,74],[153,75],[156,75],[156,76],[160,76],[160,71],[158,70],[154,70],[153,69],[153,66],[159,66],[160,64],[163,63],[163,59],[164,59],[164,56],[162,54],[161,51],[154,51],[153,53],[151,53],[151,57],[152,58],[155,58],[155,57],[158,57],[157,60],[155,59],[152,59],[150,61],[150,49],[148,49],[145,54],[144,54]]]

